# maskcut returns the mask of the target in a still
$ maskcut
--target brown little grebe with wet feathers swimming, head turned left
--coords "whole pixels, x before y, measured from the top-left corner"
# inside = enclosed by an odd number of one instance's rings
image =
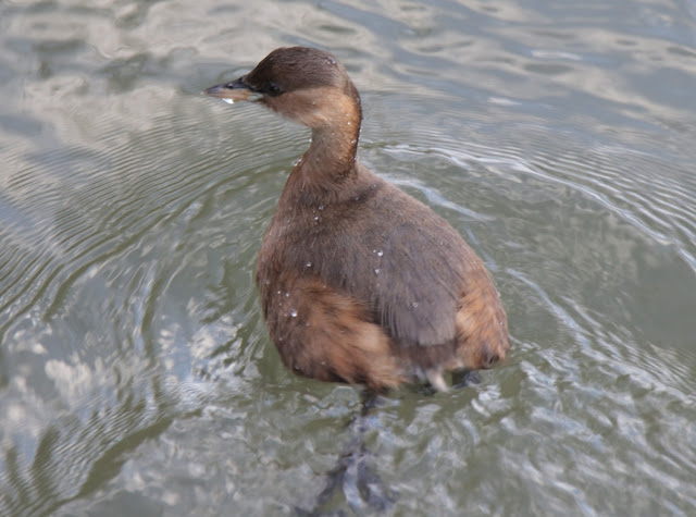
[[[204,94],[253,101],[312,130],[263,237],[257,284],[285,366],[385,391],[489,368],[509,348],[488,271],[425,205],[357,159],[362,110],[346,69],[281,48]]]

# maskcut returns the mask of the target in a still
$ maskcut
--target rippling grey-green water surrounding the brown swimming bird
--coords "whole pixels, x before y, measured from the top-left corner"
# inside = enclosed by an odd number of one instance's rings
[[[387,397],[361,479],[397,514],[693,513],[693,9],[179,8],[0,4],[0,515],[316,507],[359,393],[283,369],[252,278],[307,134],[196,97],[296,44],[346,63],[362,160],[464,234],[514,343]],[[361,465],[322,509],[368,508]]]

